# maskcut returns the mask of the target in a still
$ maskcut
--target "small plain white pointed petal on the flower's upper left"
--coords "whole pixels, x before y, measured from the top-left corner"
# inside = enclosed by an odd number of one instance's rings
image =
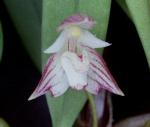
[[[56,53],[63,48],[66,41],[66,31],[62,31],[56,41],[44,53]]]

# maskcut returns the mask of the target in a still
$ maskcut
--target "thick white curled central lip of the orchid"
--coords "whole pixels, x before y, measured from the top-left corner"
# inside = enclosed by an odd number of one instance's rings
[[[81,60],[72,52],[65,52],[61,57],[61,64],[67,75],[69,85],[77,90],[81,90],[87,85],[88,64],[85,61],[87,60]]]

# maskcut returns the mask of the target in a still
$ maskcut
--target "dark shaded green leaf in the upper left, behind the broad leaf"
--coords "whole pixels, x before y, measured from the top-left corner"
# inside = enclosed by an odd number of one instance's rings
[[[4,0],[31,58],[41,69],[42,0]]]

